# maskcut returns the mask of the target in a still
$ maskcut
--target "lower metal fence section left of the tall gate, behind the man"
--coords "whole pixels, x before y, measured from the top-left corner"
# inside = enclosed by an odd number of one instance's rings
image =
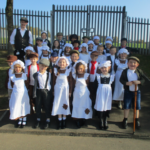
[[[20,18],[27,17],[29,23],[27,29],[32,32],[33,44],[35,44],[35,39],[41,36],[41,31],[45,30],[48,33],[48,38],[50,40],[50,12],[47,11],[31,11],[31,10],[16,10],[13,11],[13,26],[18,28],[20,26]],[[7,20],[6,13],[4,9],[0,9],[0,49],[7,49]]]

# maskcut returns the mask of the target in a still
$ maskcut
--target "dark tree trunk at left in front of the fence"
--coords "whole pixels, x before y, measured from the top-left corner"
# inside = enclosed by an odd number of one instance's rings
[[[10,35],[13,31],[13,0],[7,0],[6,4],[6,17],[7,17],[7,30],[8,30],[8,54],[13,54],[13,47],[11,46],[9,40]]]

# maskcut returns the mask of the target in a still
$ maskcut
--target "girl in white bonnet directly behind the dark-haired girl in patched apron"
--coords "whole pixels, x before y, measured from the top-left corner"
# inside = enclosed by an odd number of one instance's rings
[[[88,64],[90,62],[90,55],[88,54],[88,45],[86,43],[82,43],[79,52],[79,60],[83,60],[86,64]]]

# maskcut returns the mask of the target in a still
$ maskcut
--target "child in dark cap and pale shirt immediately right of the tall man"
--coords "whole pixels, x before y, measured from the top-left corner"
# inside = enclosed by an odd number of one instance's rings
[[[42,43],[43,43],[43,39],[41,37],[37,37],[36,38],[36,46],[34,46],[34,50],[36,53],[38,53],[39,59],[42,54]]]

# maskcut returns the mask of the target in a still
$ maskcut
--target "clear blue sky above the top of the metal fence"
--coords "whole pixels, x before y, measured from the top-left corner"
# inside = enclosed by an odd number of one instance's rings
[[[52,5],[126,6],[129,17],[150,18],[150,0],[14,0],[14,9],[50,11]],[[0,8],[6,7],[1,0]]]

